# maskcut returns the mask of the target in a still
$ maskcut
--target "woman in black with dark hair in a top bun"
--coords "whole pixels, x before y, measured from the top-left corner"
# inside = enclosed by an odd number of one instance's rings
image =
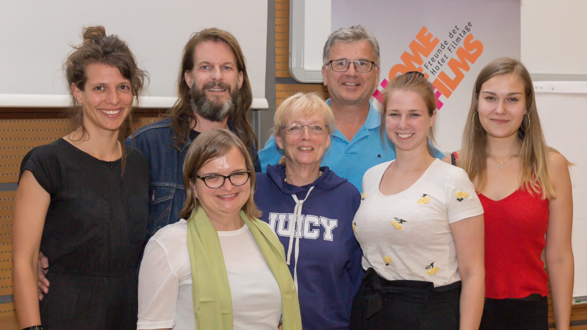
[[[136,329],[137,263],[149,167],[120,143],[146,73],[102,26],[66,60],[76,127],[21,164],[14,214],[14,300],[21,328]],[[39,249],[51,289],[39,304]]]

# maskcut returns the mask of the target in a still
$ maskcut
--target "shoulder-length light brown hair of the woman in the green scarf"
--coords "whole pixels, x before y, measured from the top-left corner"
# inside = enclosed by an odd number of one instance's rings
[[[208,132],[201,133],[194,139],[185,155],[184,161],[184,188],[185,188],[185,204],[180,212],[180,217],[187,219],[190,217],[191,212],[200,207],[200,202],[195,198],[193,188],[195,181],[198,180],[198,171],[208,163],[208,161],[225,156],[232,150],[237,148],[241,151],[242,156],[245,158],[245,164],[247,170],[251,171],[251,195],[249,199],[242,207],[247,217],[258,218],[261,216],[261,211],[255,206],[253,200],[253,193],[255,191],[255,168],[251,159],[251,154],[234,133],[230,130],[225,129],[214,129]]]

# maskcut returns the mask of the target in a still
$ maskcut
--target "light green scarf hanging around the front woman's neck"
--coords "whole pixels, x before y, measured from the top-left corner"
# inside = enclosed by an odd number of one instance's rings
[[[268,225],[256,218],[241,218],[251,231],[281,291],[284,330],[301,330],[298,294],[285,264],[285,251]],[[232,298],[224,257],[216,228],[203,208],[193,210],[187,220],[187,248],[191,263],[191,293],[198,330],[232,330]]]

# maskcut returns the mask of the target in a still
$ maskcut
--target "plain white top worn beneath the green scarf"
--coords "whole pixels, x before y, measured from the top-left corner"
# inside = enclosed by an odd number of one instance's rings
[[[279,285],[245,224],[218,231],[236,329],[277,329]],[[195,329],[187,222],[167,225],[149,240],[139,271],[137,329]]]

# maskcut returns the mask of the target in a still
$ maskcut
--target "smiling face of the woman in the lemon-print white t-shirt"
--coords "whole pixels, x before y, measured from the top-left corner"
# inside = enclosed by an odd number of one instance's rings
[[[385,130],[397,150],[426,150],[428,129],[434,124],[434,116],[422,97],[412,90],[393,90],[386,104]]]

